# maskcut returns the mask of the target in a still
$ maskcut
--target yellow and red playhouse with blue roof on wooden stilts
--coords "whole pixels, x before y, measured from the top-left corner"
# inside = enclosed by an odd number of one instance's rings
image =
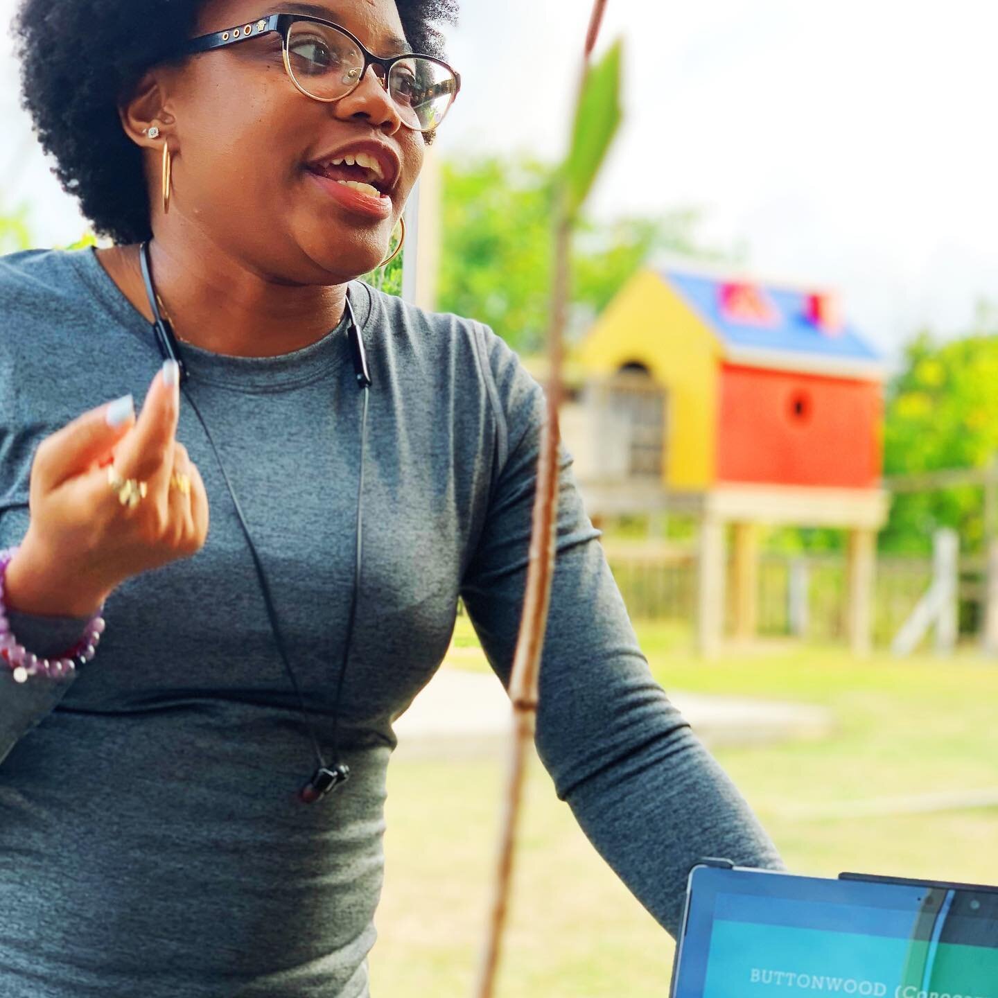
[[[704,649],[722,638],[729,527],[736,635],[754,633],[764,523],[848,531],[849,633],[865,652],[874,541],[887,508],[884,368],[836,296],[651,267],[621,289],[576,358],[593,428],[580,467],[590,508],[669,508],[700,521]]]

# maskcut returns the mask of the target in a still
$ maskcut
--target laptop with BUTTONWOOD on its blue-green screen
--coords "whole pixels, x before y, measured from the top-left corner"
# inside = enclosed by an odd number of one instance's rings
[[[673,998],[998,998],[998,887],[705,860]]]

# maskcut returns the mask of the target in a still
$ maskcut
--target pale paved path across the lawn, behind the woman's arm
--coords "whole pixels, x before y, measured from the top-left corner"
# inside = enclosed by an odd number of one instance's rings
[[[670,699],[709,745],[756,745],[827,735],[832,719],[801,704],[670,693]],[[506,693],[492,674],[444,665],[395,723],[404,755],[492,754],[510,729]]]

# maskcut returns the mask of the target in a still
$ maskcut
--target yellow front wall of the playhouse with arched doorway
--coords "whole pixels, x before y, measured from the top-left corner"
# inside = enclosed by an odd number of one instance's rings
[[[665,484],[698,490],[715,481],[718,361],[710,327],[653,270],[639,271],[610,303],[577,353],[590,373],[644,364],[669,392]]]

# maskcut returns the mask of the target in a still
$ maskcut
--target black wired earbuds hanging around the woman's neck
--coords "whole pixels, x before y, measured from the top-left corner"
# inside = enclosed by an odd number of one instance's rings
[[[311,738],[312,748],[315,752],[315,759],[317,762],[315,771],[297,793],[297,798],[302,803],[312,803],[315,800],[319,800],[326,796],[337,786],[339,786],[340,783],[346,782],[346,780],[350,777],[350,769],[349,766],[341,761],[335,761],[332,765],[327,764],[325,757],[322,754],[322,749],[319,747],[318,739],[315,736],[315,730],[312,727],[311,722],[308,720],[308,714],[305,711],[304,700],[301,697],[301,691],[298,688],[297,680],[294,678],[294,673],[291,672],[291,666],[287,660],[287,653],[284,650],[283,637],[281,636],[280,628],[277,625],[277,614],[274,610],[273,600],[270,596],[270,588],[267,585],[266,576],[263,573],[263,566],[259,560],[259,556],[256,554],[256,547],[250,537],[250,528],[247,526],[246,518],[243,516],[243,510],[240,507],[239,500],[236,498],[236,493],[233,491],[233,484],[230,481],[229,473],[226,471],[226,467],[222,463],[222,456],[219,454],[218,447],[215,446],[215,441],[212,439],[212,434],[209,432],[208,425],[201,414],[201,410],[195,404],[195,401],[191,395],[184,388],[185,383],[191,375],[187,365],[184,363],[183,357],[181,356],[180,345],[177,341],[177,336],[174,333],[173,327],[171,326],[170,321],[164,318],[162,312],[160,311],[156,287],[153,284],[148,242],[143,243],[142,246],[140,246],[139,259],[142,266],[142,278],[146,285],[146,294],[149,298],[149,307],[153,313],[153,329],[156,334],[157,342],[160,346],[160,351],[165,360],[177,361],[178,367],[180,368],[181,390],[184,391],[184,397],[187,399],[195,415],[198,417],[199,422],[205,430],[205,436],[208,438],[208,442],[211,444],[212,450],[215,452],[215,458],[219,463],[219,469],[222,471],[222,477],[225,479],[226,487],[229,489],[229,494],[232,497],[233,506],[236,509],[236,515],[239,518],[240,526],[243,528],[247,544],[250,546],[250,554],[252,555],[253,566],[256,570],[256,577],[259,580],[259,587],[263,595],[263,603],[266,607],[267,617],[270,621],[270,630],[273,632],[273,640],[277,646],[277,651],[280,654],[281,661],[284,664],[284,670],[291,681],[291,686],[294,688],[294,694],[298,701],[298,709],[301,712],[301,719],[304,722],[309,737]],[[367,400],[372,383],[370,370],[367,366],[367,354],[364,351],[363,339],[360,336],[360,329],[357,326],[357,319],[353,313],[353,306],[350,304],[348,291],[346,294],[346,312],[349,315],[349,325],[347,327],[346,337],[350,349],[350,359],[353,362],[353,371],[356,375],[357,386],[362,392],[362,402],[360,407],[360,469],[357,475],[356,544],[353,564],[353,589],[350,596],[350,610],[346,624],[346,635],[343,640],[343,658],[339,670],[339,679],[336,684],[336,696],[332,705],[332,749],[333,757],[337,760],[339,759],[339,698],[343,690],[343,678],[346,675],[346,667],[349,662],[350,642],[353,638],[353,625],[357,612],[357,597],[360,592],[360,568],[363,561],[362,500],[364,491],[364,458],[367,450]]]

